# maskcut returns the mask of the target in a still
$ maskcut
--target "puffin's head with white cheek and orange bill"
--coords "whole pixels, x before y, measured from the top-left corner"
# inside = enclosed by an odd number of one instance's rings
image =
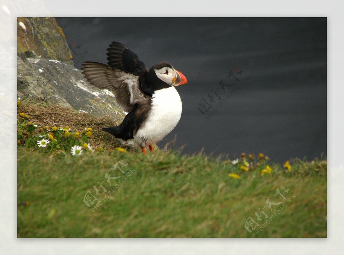
[[[154,90],[187,83],[185,76],[168,62],[160,62],[149,69],[148,82]]]

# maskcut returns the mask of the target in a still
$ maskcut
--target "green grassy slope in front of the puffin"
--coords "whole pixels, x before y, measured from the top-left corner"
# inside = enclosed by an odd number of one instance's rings
[[[111,169],[120,159],[131,176],[108,198],[97,195],[102,204],[93,212],[83,202],[85,193],[95,195],[93,186],[106,172],[118,176]],[[281,204],[272,205],[273,212],[264,209],[277,217],[266,227],[264,219],[257,237],[326,237],[326,161],[298,161],[290,172],[269,165],[272,174],[261,177],[259,169],[241,173],[204,155],[115,150],[73,157],[19,146],[18,237],[252,237],[246,219],[256,220],[267,198],[283,201],[273,196],[281,185],[289,189],[287,198],[296,197],[279,214]],[[241,178],[228,177],[231,172]],[[112,187],[118,180],[111,180]],[[108,182],[103,186],[111,190]]]

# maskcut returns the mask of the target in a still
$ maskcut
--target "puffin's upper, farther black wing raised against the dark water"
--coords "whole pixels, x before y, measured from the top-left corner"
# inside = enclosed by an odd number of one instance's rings
[[[106,53],[109,66],[140,77],[148,73],[146,65],[127,46],[118,42],[111,42],[109,46],[108,53]]]

